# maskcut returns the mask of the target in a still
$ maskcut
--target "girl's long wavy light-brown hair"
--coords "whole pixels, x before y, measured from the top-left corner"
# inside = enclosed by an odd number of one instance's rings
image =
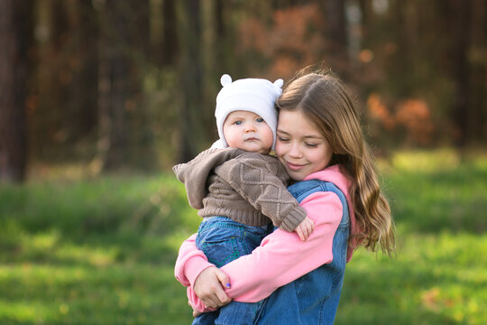
[[[276,101],[279,110],[301,110],[326,137],[333,150],[330,162],[339,164],[350,181],[355,237],[367,249],[391,255],[395,248],[391,209],[363,137],[354,103],[344,83],[329,71],[305,73],[293,79]],[[353,238],[351,238],[353,239]]]

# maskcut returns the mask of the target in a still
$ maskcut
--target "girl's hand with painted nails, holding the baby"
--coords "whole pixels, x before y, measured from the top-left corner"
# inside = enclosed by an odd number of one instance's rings
[[[207,308],[219,308],[232,302],[226,295],[225,288],[230,288],[228,275],[216,266],[210,266],[201,272],[193,285],[196,295]]]

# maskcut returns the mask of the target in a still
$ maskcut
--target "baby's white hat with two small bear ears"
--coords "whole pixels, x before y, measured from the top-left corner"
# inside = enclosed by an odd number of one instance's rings
[[[228,144],[223,133],[223,125],[230,113],[243,110],[253,112],[263,118],[269,125],[274,136],[272,150],[276,143],[277,111],[274,102],[282,93],[284,81],[277,79],[273,83],[267,79],[238,79],[232,82],[232,78],[224,74],[220,79],[223,88],[216,96],[216,127],[223,147]]]

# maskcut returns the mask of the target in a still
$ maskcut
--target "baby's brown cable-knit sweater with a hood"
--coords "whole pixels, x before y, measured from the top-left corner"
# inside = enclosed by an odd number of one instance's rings
[[[224,216],[249,226],[272,223],[293,231],[305,209],[286,189],[289,175],[277,158],[239,149],[208,149],[172,168],[198,216]]]

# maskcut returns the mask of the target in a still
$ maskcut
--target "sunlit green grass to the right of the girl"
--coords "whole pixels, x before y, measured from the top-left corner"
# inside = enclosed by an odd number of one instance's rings
[[[397,257],[359,250],[337,324],[487,322],[487,155],[396,153],[381,162]]]

